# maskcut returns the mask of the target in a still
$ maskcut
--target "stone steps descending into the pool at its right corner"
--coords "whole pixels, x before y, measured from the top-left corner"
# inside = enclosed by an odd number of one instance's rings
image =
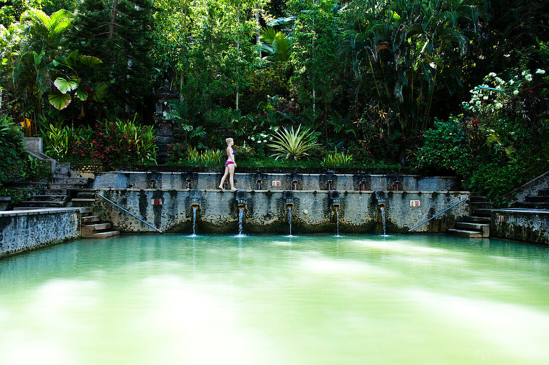
[[[464,221],[456,223],[456,227],[448,230],[447,234],[467,238],[490,237],[490,217],[494,203],[490,203],[485,196],[477,195],[471,196],[469,202],[473,215],[464,217]]]

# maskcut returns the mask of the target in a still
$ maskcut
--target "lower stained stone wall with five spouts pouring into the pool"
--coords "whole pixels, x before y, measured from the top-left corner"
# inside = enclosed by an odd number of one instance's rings
[[[98,194],[164,232],[191,231],[195,207],[197,231],[218,233],[238,231],[239,206],[245,209],[243,225],[245,232],[249,233],[288,232],[289,206],[292,208],[293,232],[334,232],[336,207],[341,232],[379,232],[383,230],[381,205],[385,210],[387,231],[406,232],[469,196],[468,192],[460,191],[385,191],[382,196],[376,196],[374,191],[345,191],[334,197],[334,193],[330,196],[328,191],[160,189],[103,189]],[[420,206],[411,207],[411,200],[419,201]],[[94,209],[117,230],[154,232],[104,199],[98,199]],[[456,220],[468,214],[466,201],[414,232],[445,232]]]

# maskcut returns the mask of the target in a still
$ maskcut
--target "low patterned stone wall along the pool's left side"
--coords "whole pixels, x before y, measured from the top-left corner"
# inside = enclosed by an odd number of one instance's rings
[[[0,212],[0,258],[80,237],[80,210]]]

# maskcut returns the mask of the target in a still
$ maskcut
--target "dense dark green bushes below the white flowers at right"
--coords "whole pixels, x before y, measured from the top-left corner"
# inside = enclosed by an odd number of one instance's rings
[[[417,155],[418,168],[453,170],[463,177],[465,189],[483,193],[492,201],[549,169],[549,142],[543,135],[523,134],[521,143],[508,154],[488,138],[464,129],[464,119],[435,121],[435,128],[424,134],[425,144]],[[512,135],[517,130],[509,129],[502,121],[496,133],[509,141],[514,140]],[[531,148],[534,144],[537,150]]]

